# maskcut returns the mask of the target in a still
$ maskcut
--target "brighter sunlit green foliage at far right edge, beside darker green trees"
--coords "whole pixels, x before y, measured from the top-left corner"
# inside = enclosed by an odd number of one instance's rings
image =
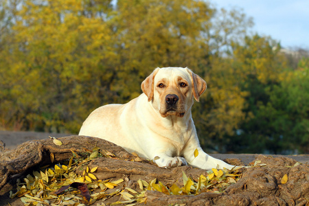
[[[279,135],[282,149],[309,152],[308,89],[309,59],[304,59],[297,70],[284,73],[279,86],[268,92],[270,101],[261,108],[277,115],[271,126],[277,132],[273,136]]]

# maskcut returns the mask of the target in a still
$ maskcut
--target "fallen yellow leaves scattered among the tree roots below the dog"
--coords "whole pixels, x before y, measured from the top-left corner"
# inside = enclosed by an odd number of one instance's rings
[[[203,192],[224,192],[225,189],[236,183],[242,177],[242,170],[218,170],[212,168],[207,170],[205,175],[201,174],[198,181],[194,181],[183,172],[183,186],[164,185],[161,181],[153,179],[150,182],[139,179],[139,191],[122,184],[124,179],[111,181],[110,179],[100,180],[95,176],[98,167],[89,168],[88,164],[97,157],[115,158],[111,152],[93,148],[87,151],[87,157],[73,152],[73,157],[62,164],[53,166],[45,165],[40,171],[27,174],[23,182],[19,179],[16,183],[16,192],[10,191],[10,198],[18,197],[25,205],[91,205],[96,201],[105,201],[113,196],[120,196],[123,201],[116,201],[110,205],[135,205],[145,203],[147,190],[162,192],[166,195],[197,195]],[[198,151],[194,151],[194,156]],[[136,159],[136,157],[135,157]],[[132,160],[131,160],[132,161]],[[77,172],[80,165],[84,166],[83,172]],[[255,162],[251,167],[264,166]],[[282,178],[286,183],[287,178]],[[115,188],[117,187],[117,188]],[[95,190],[98,189],[98,190]],[[100,191],[100,192],[97,192]],[[92,194],[91,194],[92,193]]]

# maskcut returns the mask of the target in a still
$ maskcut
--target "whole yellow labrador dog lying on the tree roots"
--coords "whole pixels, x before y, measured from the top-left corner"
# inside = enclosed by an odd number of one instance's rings
[[[233,168],[207,155],[198,142],[191,107],[205,89],[206,82],[190,69],[157,68],[141,83],[144,93],[126,104],[95,109],[79,135],[106,139],[159,167]]]

